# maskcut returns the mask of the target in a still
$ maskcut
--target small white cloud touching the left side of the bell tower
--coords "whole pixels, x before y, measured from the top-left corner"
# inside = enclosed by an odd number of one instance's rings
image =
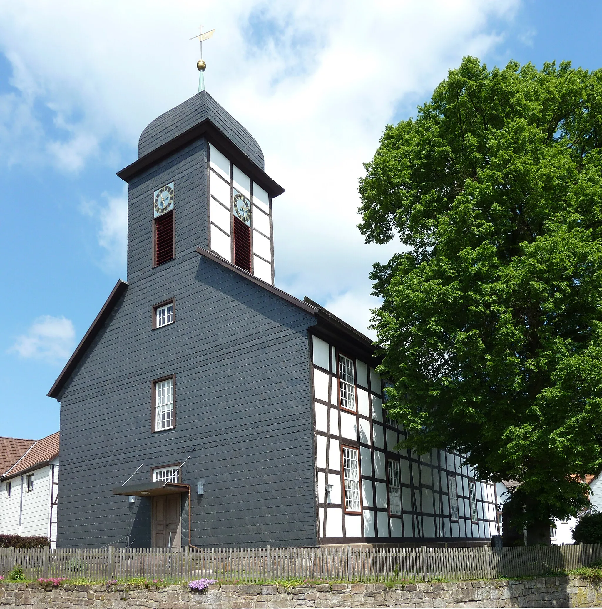
[[[101,268],[108,273],[118,272],[127,264],[127,186],[119,196],[104,192],[102,197],[104,205],[87,201],[82,203],[81,210],[99,224],[98,245],[105,250]]]

